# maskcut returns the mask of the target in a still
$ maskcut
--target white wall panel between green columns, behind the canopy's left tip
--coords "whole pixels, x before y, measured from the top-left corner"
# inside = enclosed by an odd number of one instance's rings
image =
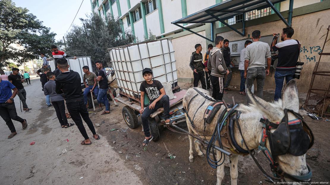
[[[162,0],[162,9],[165,33],[179,28],[171,22],[182,18],[181,0]]]

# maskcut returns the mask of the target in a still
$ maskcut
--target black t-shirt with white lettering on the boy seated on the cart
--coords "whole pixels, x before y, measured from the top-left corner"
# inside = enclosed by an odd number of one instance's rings
[[[164,87],[158,80],[153,80],[152,84],[148,84],[147,81],[144,81],[141,83],[140,91],[145,92],[149,97],[150,103],[152,103],[160,96],[160,90],[162,88]]]

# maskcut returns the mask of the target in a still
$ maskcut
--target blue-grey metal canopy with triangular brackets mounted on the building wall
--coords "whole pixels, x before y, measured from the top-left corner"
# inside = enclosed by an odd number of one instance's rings
[[[245,13],[253,10],[261,10],[264,8],[271,7],[271,9],[281,18],[281,20],[284,22],[284,24],[286,24],[286,26],[291,26],[293,0],[290,0],[288,21],[285,20],[285,18],[274,6],[275,3],[279,3],[282,1],[285,0],[226,0],[222,3],[215,4],[209,8],[190,14],[179,20],[173,21],[172,24],[179,26],[182,29],[194,33],[200,37],[203,37],[206,40],[210,40],[211,42],[213,42],[213,23],[216,21],[220,21],[235,32],[239,33],[242,36],[245,36]],[[243,14],[243,32],[238,31],[237,29],[225,22],[225,20],[230,19],[239,14]],[[196,32],[191,31],[189,28],[179,25],[188,23],[211,23],[211,39],[197,34]]]

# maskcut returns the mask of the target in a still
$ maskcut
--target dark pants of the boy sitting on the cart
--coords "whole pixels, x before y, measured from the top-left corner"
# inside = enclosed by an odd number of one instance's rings
[[[164,95],[156,103],[156,105],[153,109],[149,109],[149,106],[148,106],[143,111],[141,119],[142,119],[143,131],[144,131],[146,137],[150,136],[148,118],[152,113],[154,113],[160,107],[164,108],[164,119],[165,120],[170,119],[170,98],[168,97],[168,95]]]

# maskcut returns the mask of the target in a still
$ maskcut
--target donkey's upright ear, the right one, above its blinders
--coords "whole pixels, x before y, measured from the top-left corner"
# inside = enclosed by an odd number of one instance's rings
[[[291,109],[294,112],[299,111],[299,98],[296,80],[292,79],[286,84],[282,93],[282,107]]]

